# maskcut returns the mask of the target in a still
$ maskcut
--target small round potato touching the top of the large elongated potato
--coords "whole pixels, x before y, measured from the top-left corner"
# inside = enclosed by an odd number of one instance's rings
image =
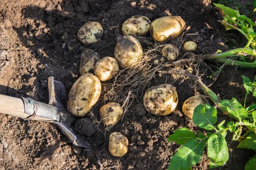
[[[95,65],[94,74],[100,81],[107,81],[117,75],[118,62],[113,57],[103,57]]]

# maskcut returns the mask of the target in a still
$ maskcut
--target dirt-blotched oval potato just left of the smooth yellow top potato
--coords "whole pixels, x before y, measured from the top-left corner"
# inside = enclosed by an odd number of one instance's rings
[[[145,16],[133,16],[124,21],[122,33],[124,35],[146,35],[150,28],[150,19]]]

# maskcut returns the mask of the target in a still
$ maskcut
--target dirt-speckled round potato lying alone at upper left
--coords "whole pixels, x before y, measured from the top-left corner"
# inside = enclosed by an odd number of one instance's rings
[[[103,28],[98,22],[88,22],[78,31],[78,39],[84,45],[97,43],[103,34]]]

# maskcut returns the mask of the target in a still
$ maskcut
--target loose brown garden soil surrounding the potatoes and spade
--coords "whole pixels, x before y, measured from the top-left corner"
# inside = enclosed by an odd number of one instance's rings
[[[204,3],[202,3],[204,2]],[[226,32],[217,21],[221,17],[209,6],[209,0],[1,0],[0,1],[0,94],[31,97],[48,102],[47,78],[54,76],[64,83],[68,92],[79,77],[80,54],[92,49],[103,56],[113,56],[121,24],[134,15],[154,20],[158,17],[181,16],[190,29],[181,40],[194,40],[195,53],[227,50],[232,42],[244,44],[236,32]],[[205,6],[207,5],[207,7]],[[101,41],[84,46],[77,39],[79,28],[88,21],[98,21],[104,32]],[[149,36],[150,41],[154,42]],[[177,39],[176,38],[176,39]],[[174,41],[176,40],[174,39]],[[146,47],[143,46],[145,49]],[[219,65],[206,62],[204,82]],[[225,67],[211,86],[222,98],[243,101],[245,90],[241,75],[250,77],[256,70]],[[93,150],[72,146],[68,139],[50,123],[23,120],[0,115],[0,170],[162,170],[179,147],[168,143],[175,129],[188,127],[198,132],[192,120],[181,112],[181,105],[194,94],[203,94],[193,83],[174,76],[159,78],[152,85],[167,81],[177,87],[179,102],[169,116],[147,113],[141,103],[133,102],[124,118],[102,131],[97,106],[74,127]],[[252,98],[248,102],[252,102]],[[220,112],[219,121],[228,117]],[[121,132],[129,140],[129,152],[113,157],[108,152],[111,132]],[[230,158],[219,170],[242,170],[252,153],[237,149],[236,141],[227,136]],[[204,154],[193,170],[208,169]]]

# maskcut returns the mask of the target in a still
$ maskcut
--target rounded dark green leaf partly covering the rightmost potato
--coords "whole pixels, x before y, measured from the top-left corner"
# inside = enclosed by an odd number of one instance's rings
[[[217,109],[210,104],[199,104],[193,113],[193,121],[200,128],[213,130],[217,122]]]

